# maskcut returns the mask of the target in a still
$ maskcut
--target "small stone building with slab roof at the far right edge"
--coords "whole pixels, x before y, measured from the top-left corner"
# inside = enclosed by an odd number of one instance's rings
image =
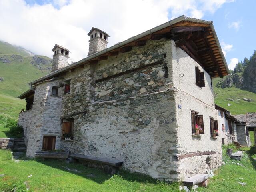
[[[246,113],[245,115],[234,115],[236,119],[242,122],[241,134],[240,134],[240,142],[241,145],[250,147],[252,145],[250,140],[249,131],[254,131],[254,141],[256,139],[256,113]],[[238,136],[237,136],[238,139]],[[256,142],[255,142],[256,144]],[[256,146],[254,144],[254,146]]]

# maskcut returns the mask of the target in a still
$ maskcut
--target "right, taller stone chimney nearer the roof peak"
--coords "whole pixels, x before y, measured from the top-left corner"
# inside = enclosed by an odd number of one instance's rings
[[[88,56],[107,48],[108,37],[110,36],[106,32],[92,27],[88,36],[90,36]]]

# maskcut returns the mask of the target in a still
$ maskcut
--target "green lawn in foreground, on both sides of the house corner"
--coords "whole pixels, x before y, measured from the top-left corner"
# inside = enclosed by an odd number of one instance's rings
[[[256,150],[245,148],[241,161],[230,160],[223,147],[226,163],[216,170],[208,188],[200,187],[198,192],[255,192],[256,191]],[[249,154],[246,154],[250,152]],[[239,163],[239,164],[236,164]],[[11,152],[0,150],[0,190],[30,188],[30,191],[74,191],[74,192],[178,192],[178,183],[166,184],[147,176],[121,171],[113,176],[97,168],[82,164],[67,164],[61,160],[26,159],[15,162]],[[32,175],[28,178],[28,176]],[[27,183],[26,187],[24,183]],[[244,182],[242,186],[238,182]],[[22,192],[22,190],[20,190]],[[24,190],[25,191],[25,190]]]

